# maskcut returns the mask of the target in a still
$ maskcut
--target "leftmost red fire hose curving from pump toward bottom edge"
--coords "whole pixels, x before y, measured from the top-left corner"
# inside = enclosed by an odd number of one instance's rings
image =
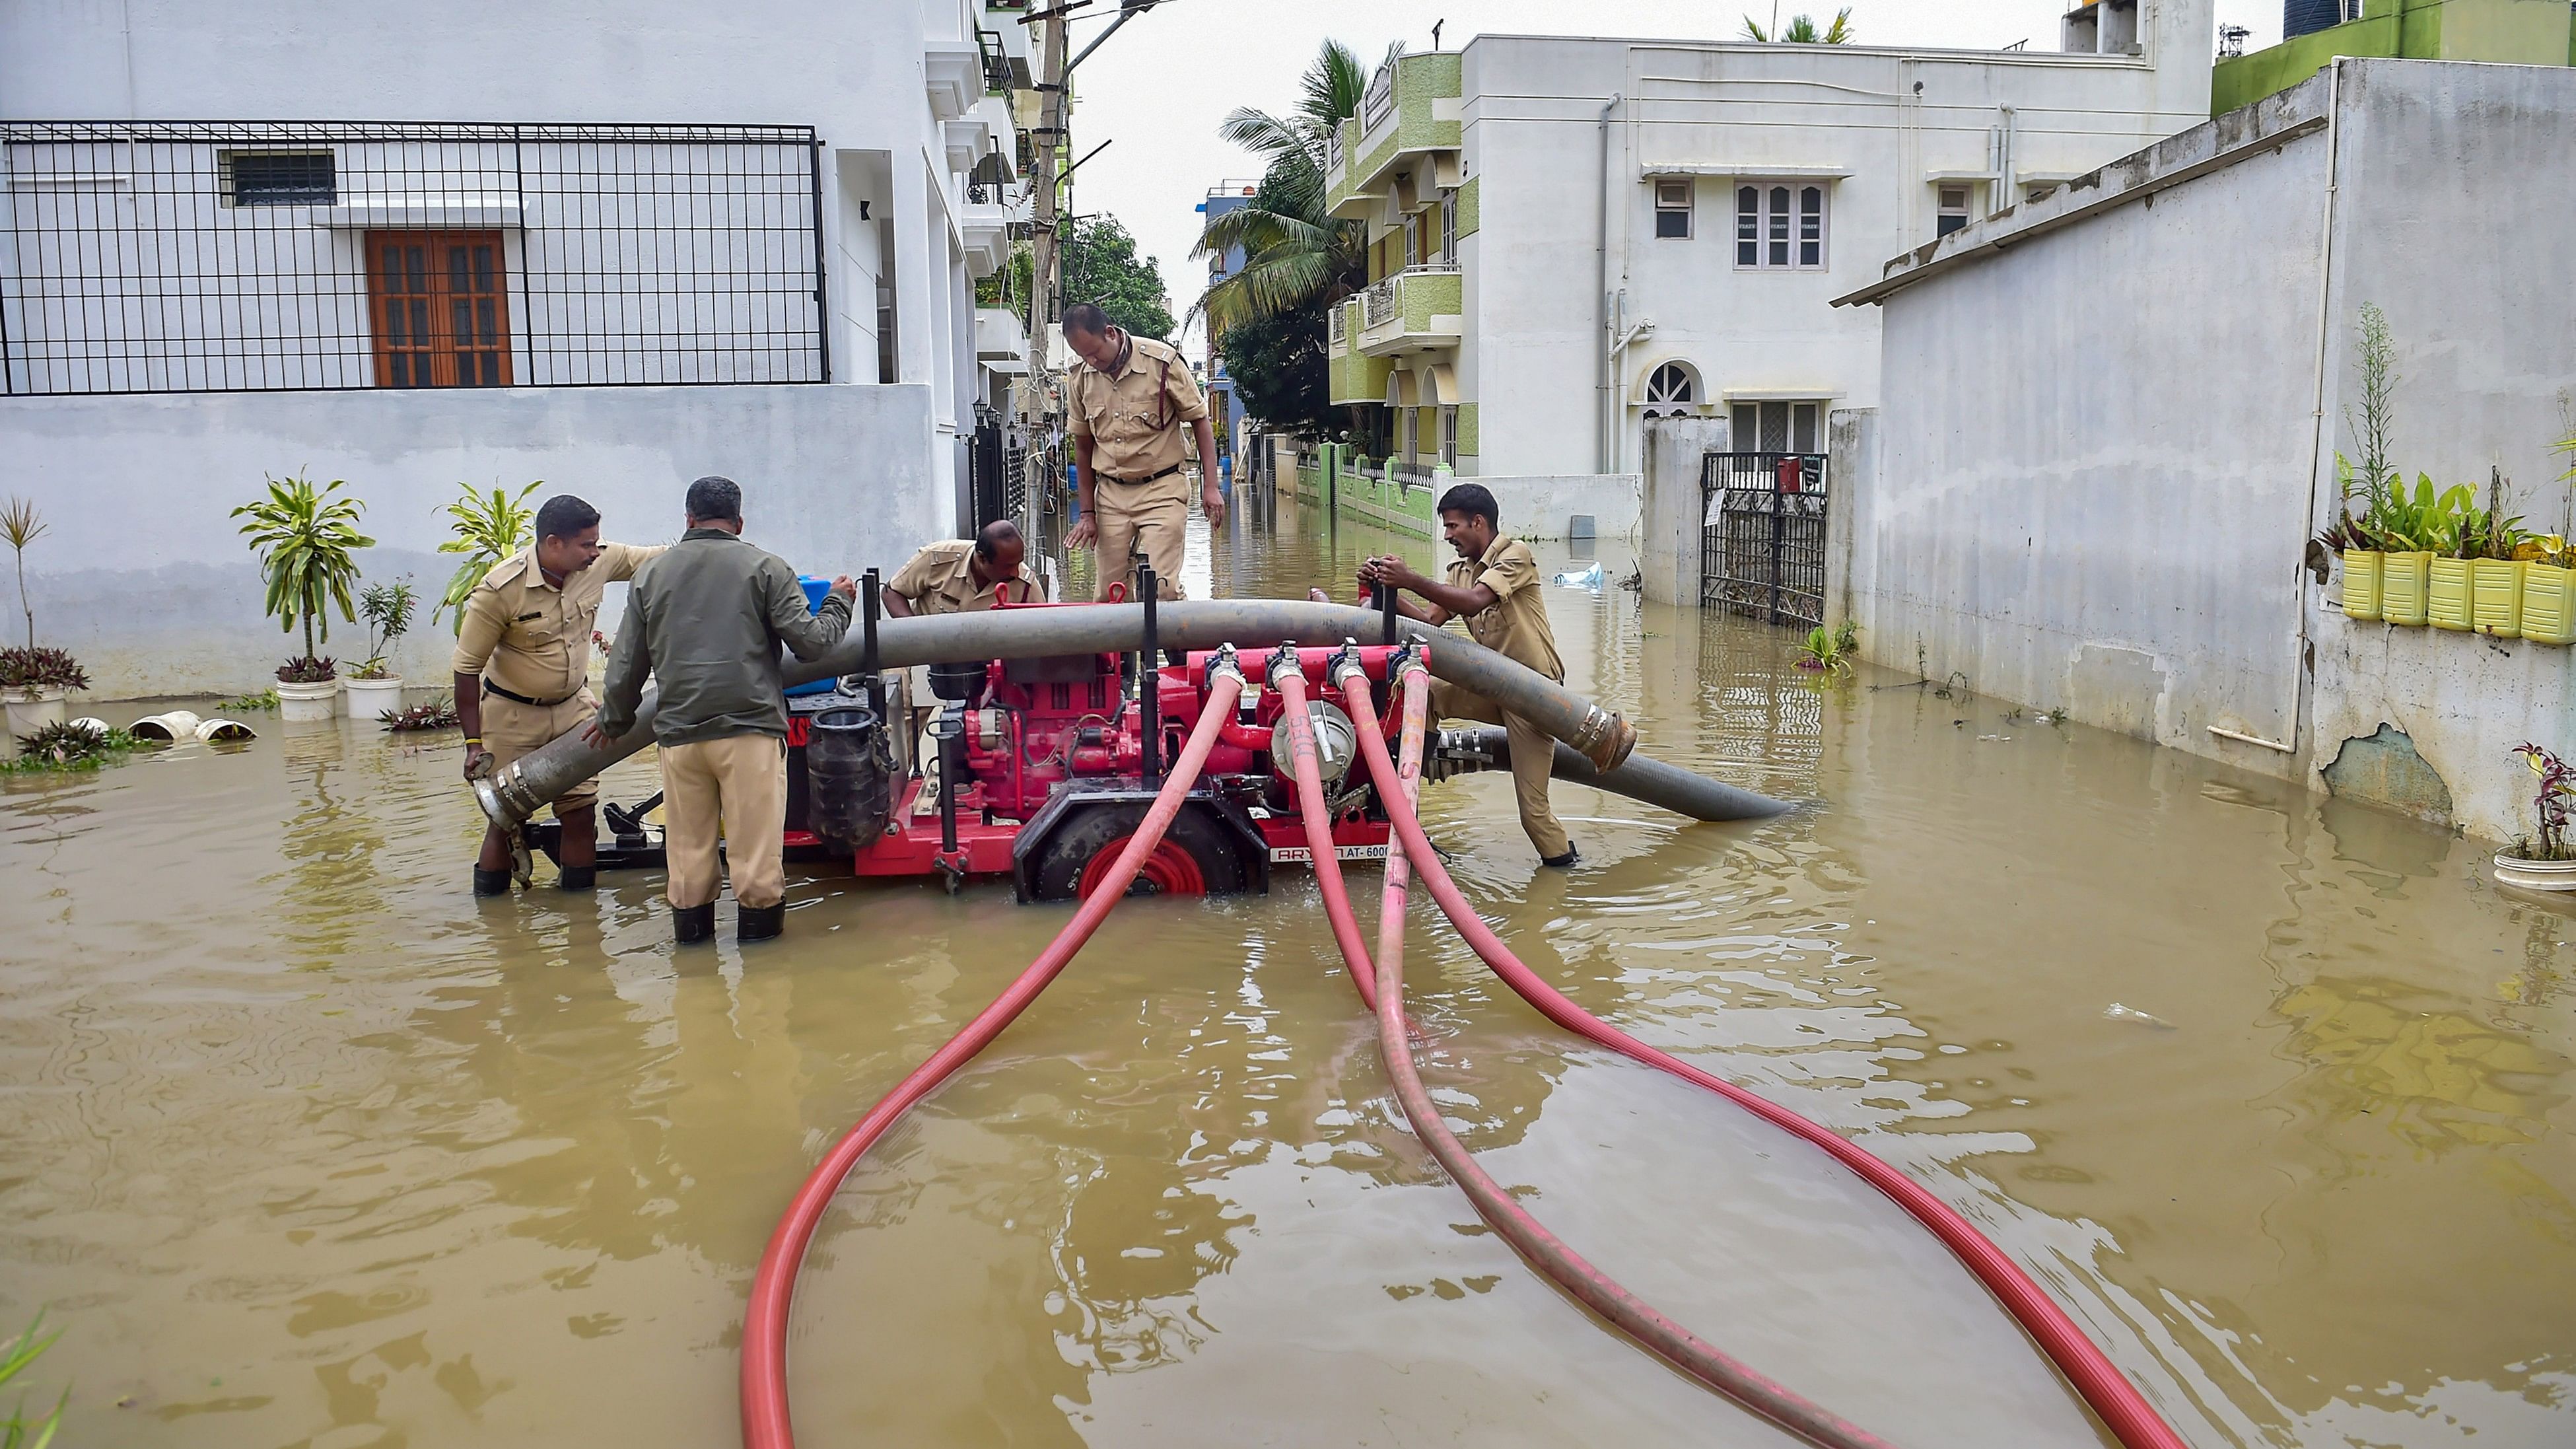
[[[976,1052],[981,1052],[1005,1026],[1018,1018],[1028,1003],[1038,1000],[1046,982],[1056,980],[1056,972],[1074,959],[1074,951],[1092,938],[1100,920],[1126,897],[1128,882],[1144,869],[1146,856],[1162,843],[1162,833],[1172,828],[1172,817],[1180,815],[1180,802],[1198,784],[1200,766],[1208,763],[1208,750],[1216,745],[1218,727],[1234,717],[1234,696],[1242,691],[1244,676],[1236,673],[1231,657],[1221,660],[1208,670],[1208,706],[1198,712],[1198,724],[1190,730],[1190,743],[1182,745],[1180,758],[1172,761],[1170,779],[1162,781],[1162,792],[1154,794],[1154,804],[1146,817],[1136,825],[1128,838],[1126,851],[1118,853],[1118,864],[1110,874],[1092,890],[1074,918],[1064,923],[1064,931],[1038,954],[1036,962],[1020,972],[1020,980],[1010,982],[1010,990],[994,998],[963,1031],[948,1039],[927,1062],[912,1070],[891,1093],[884,1096],[868,1116],[858,1119],[832,1152],[814,1168],[814,1173],[796,1189],[796,1199],[788,1212],[778,1220],[770,1232],[770,1245],[760,1253],[760,1269],[752,1274],[752,1302],[742,1315],[742,1444],[744,1449],[793,1449],[796,1431],[788,1423],[788,1307],[796,1297],[796,1269],[804,1266],[806,1245],[814,1240],[814,1227],[822,1225],[824,1209],[832,1204],[832,1194],[840,1191],[840,1181],[850,1176],[850,1168],[876,1145],[878,1137],[894,1127],[912,1104],[930,1096],[935,1085],[948,1080],[951,1073],[963,1067]]]

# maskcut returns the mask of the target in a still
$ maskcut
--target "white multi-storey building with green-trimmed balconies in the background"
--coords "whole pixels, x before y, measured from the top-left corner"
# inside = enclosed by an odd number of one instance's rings
[[[2210,0],[2105,0],[2061,52],[1479,36],[1381,72],[1329,204],[1370,229],[1332,397],[1414,469],[1602,513],[1641,420],[1821,451],[1878,400],[1880,260],[2208,119]],[[1383,413],[1378,413],[1383,410]],[[1538,487],[1535,482],[1528,487]],[[1618,518],[1605,516],[1605,529]]]

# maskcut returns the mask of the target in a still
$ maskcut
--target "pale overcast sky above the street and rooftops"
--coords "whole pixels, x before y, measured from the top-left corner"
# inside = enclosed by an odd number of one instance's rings
[[[1744,3],[1692,0],[1162,0],[1133,18],[1077,72],[1074,155],[1115,142],[1074,175],[1077,211],[1110,211],[1136,232],[1136,250],[1162,263],[1172,312],[1182,315],[1206,284],[1193,263],[1195,206],[1224,178],[1260,175],[1260,162],[1216,137],[1236,106],[1285,113],[1296,77],[1324,36],[1363,59],[1401,39],[1406,49],[1458,49],[1479,31],[1610,34],[1656,39],[1731,39],[1744,28]],[[1757,0],[1762,23],[1770,3]],[[1783,5],[1819,21],[1837,5]],[[2066,0],[1852,0],[1852,28],[1865,44],[2056,49]],[[1095,0],[1072,23],[1074,49],[1108,23],[1113,0]],[[1079,15],[1103,15],[1100,21]],[[2280,39],[2277,0],[2218,0],[2218,18],[2246,26],[2246,49]],[[2210,46],[2215,49],[2215,36]]]

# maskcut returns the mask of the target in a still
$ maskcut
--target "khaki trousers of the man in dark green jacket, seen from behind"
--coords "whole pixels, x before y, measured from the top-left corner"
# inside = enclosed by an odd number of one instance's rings
[[[670,853],[670,905],[716,900],[716,825],[734,864],[737,905],[778,905],[788,895],[781,835],[788,828],[788,743],[778,735],[726,735],[662,745],[662,843]]]

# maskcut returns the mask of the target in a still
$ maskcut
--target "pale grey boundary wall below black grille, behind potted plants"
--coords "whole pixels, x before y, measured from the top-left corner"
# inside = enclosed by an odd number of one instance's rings
[[[260,572],[229,518],[263,472],[345,477],[379,544],[361,554],[366,578],[407,572],[430,601],[456,567],[435,547],[459,482],[546,480],[531,503],[577,492],[605,536],[652,544],[680,536],[688,480],[721,472],[742,482],[752,541],[806,572],[858,575],[945,536],[930,431],[925,384],[10,397],[0,490],[44,513],[26,554],[36,634],[80,655],[95,696],[234,694],[299,650],[260,616]],[[15,575],[0,593],[15,614]],[[600,627],[621,608],[613,588]],[[446,686],[448,647],[425,603],[394,663]],[[335,621],[325,652],[355,660],[366,632]]]

